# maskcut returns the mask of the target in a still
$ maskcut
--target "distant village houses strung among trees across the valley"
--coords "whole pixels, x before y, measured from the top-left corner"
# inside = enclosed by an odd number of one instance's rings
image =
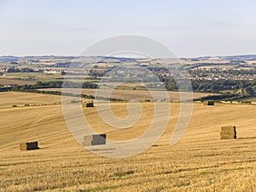
[[[113,68],[113,67],[112,67]],[[150,68],[151,71],[154,72],[157,76],[161,76],[163,78],[170,78],[172,76],[178,76],[179,78],[183,78],[182,74],[177,73],[174,74],[175,71],[168,71],[165,68],[157,69],[157,68]],[[94,70],[100,71],[99,69]],[[99,73],[104,73],[104,71],[108,71],[106,68],[102,69]],[[241,80],[241,81],[253,81],[256,79],[256,69],[230,69],[230,68],[218,68],[218,67],[204,67],[204,68],[193,68],[187,69],[188,77],[190,80],[208,80],[208,81],[216,81],[216,80]],[[44,74],[60,74],[65,75],[67,73],[67,68],[47,68],[47,67],[38,67],[38,68],[21,68],[20,66],[0,66],[0,75],[5,76],[6,73],[17,73],[17,72],[36,72],[36,73],[44,73]],[[120,76],[121,74],[125,76],[125,71],[119,69],[117,71],[117,75]],[[81,69],[69,69],[69,75],[76,75],[76,74],[88,74],[88,71],[81,68]],[[133,71],[134,76],[141,76],[141,71]]]

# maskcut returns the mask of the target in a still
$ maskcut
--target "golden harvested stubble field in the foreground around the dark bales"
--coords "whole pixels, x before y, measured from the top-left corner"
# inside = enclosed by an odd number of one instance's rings
[[[179,116],[179,104],[171,103],[166,132],[156,144],[136,156],[110,159],[84,150],[74,140],[61,104],[54,105],[60,101],[60,96],[46,94],[0,93],[0,191],[256,190],[255,105],[194,104],[186,133],[171,146]],[[116,116],[128,115],[126,103],[111,107]],[[119,130],[108,127],[96,108],[83,108],[90,126],[113,140],[147,130],[154,103],[142,103],[142,110],[136,125]],[[221,140],[220,127],[233,125],[238,139]],[[19,150],[20,143],[36,140],[40,150]]]

